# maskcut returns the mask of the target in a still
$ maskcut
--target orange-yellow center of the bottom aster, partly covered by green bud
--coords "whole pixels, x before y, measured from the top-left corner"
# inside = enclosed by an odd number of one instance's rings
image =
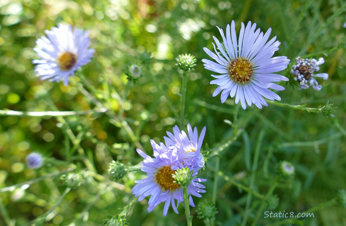
[[[163,191],[170,190],[172,192],[180,188],[179,184],[173,183],[172,173],[175,174],[175,171],[171,169],[171,166],[163,166],[157,171],[155,181]]]

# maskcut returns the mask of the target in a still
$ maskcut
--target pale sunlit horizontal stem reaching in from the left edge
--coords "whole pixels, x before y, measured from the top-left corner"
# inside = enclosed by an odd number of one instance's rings
[[[42,116],[71,116],[71,115],[87,115],[87,114],[102,114],[107,112],[107,108],[100,108],[95,110],[86,110],[86,111],[43,111],[43,112],[35,112],[35,111],[12,111],[12,110],[0,110],[0,115],[11,115],[11,116],[34,116],[34,117],[42,117]]]

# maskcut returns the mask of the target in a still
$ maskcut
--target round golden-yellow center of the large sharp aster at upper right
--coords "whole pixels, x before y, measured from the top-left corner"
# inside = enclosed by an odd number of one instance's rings
[[[242,84],[250,81],[253,72],[253,63],[243,57],[234,59],[228,66],[228,76]]]

